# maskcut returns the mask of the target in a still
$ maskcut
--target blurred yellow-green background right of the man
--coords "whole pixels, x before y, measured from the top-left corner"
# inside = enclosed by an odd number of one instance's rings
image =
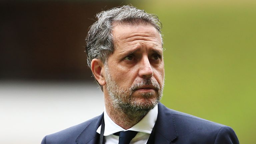
[[[169,108],[232,127],[256,143],[256,2],[132,1],[163,24]]]

